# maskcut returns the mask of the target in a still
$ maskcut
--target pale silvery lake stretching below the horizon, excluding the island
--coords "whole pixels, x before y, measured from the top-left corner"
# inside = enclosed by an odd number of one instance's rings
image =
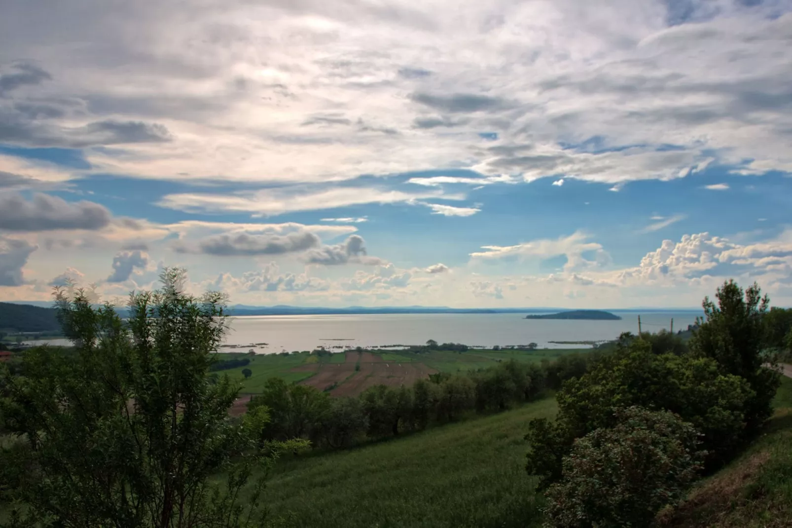
[[[238,316],[230,320],[227,344],[238,349],[251,348],[259,354],[286,350],[314,350],[318,346],[419,345],[461,342],[468,346],[527,345],[540,348],[584,348],[585,345],[550,341],[600,341],[616,339],[624,331],[638,331],[638,312],[613,313],[619,321],[524,319],[525,314],[365,314],[341,316]],[[671,326],[684,330],[695,323],[700,312],[640,312],[644,331],[659,331]],[[66,345],[65,339],[29,341],[30,344]],[[253,343],[266,345],[251,346]],[[336,349],[338,350],[338,349]]]

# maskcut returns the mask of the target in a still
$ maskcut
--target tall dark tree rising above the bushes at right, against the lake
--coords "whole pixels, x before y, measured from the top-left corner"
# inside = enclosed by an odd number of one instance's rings
[[[713,358],[724,373],[743,377],[755,392],[745,409],[747,434],[756,434],[773,413],[772,400],[779,387],[779,373],[763,367],[766,334],[764,316],[770,299],[756,283],[743,290],[734,281],[718,288],[716,305],[706,297],[704,319],[697,319],[690,346],[693,354]]]

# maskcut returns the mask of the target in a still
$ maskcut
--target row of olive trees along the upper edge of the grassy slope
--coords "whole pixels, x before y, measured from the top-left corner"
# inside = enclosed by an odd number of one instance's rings
[[[470,373],[432,374],[412,386],[377,385],[360,396],[341,398],[271,378],[248,409],[268,408],[270,421],[261,430],[262,442],[306,438],[314,446],[337,449],[535,400],[581,376],[601,355],[569,354],[539,364],[512,360]]]

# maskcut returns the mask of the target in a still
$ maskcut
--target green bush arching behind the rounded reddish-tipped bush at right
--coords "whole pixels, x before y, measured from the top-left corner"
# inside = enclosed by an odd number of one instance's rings
[[[611,425],[614,407],[640,406],[672,411],[703,433],[711,464],[729,457],[740,445],[747,381],[723,374],[710,358],[653,354],[649,343],[635,340],[600,358],[590,372],[566,381],[558,392],[555,423],[531,423],[528,473],[543,476],[543,486],[558,480],[562,456],[575,438]]]

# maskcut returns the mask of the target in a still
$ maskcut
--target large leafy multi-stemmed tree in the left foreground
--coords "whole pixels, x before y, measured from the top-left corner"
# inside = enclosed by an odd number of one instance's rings
[[[227,376],[208,383],[227,328],[223,296],[184,293],[183,270],[161,278],[162,289],[131,294],[128,320],[111,304],[93,308],[86,290],[56,290],[76,353],[37,347],[24,375],[4,373],[0,415],[19,442],[0,452],[15,479],[2,499],[29,521],[245,526],[263,515],[263,480],[244,504],[236,498],[253,469],[290,446],[255,449],[267,409],[230,419],[238,388]]]

